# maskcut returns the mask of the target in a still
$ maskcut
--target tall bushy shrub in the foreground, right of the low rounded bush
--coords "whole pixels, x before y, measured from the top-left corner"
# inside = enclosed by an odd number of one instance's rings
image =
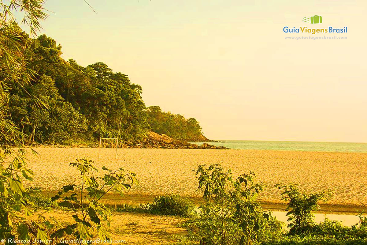
[[[200,217],[189,227],[200,244],[259,244],[283,235],[281,222],[262,210],[256,198],[262,185],[254,182],[255,174],[242,174],[233,179],[219,165],[200,165],[199,190],[205,203]]]

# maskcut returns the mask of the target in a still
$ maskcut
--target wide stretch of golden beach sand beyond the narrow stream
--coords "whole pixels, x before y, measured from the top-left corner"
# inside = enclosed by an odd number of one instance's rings
[[[302,190],[330,189],[331,204],[367,205],[367,153],[301,152],[271,150],[208,149],[98,149],[34,148],[39,155],[28,154],[34,171],[33,186],[53,191],[70,183],[80,183],[78,172],[69,163],[87,157],[95,166],[135,172],[140,181],[130,195],[181,194],[200,197],[192,171],[200,164],[219,163],[235,175],[252,170],[257,181],[267,185],[260,199],[277,202],[276,183],[297,183]]]

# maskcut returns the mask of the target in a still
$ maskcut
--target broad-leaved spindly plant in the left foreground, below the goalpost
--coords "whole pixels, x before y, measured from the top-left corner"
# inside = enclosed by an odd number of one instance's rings
[[[107,227],[110,226],[111,211],[100,200],[109,191],[123,194],[125,190],[131,188],[131,185],[137,185],[138,181],[135,179],[135,173],[126,173],[122,168],[112,171],[104,166],[102,170],[105,174],[103,177],[99,177],[96,175],[98,169],[92,163],[91,160],[86,158],[77,159],[76,162],[70,163],[71,166],[80,171],[81,185],[63,186],[62,190],[52,200],[61,198],[70,202],[74,210],[72,217],[75,223],[55,231],[50,235],[51,238],[59,238],[65,233],[72,233],[80,241],[86,241],[92,238],[92,232],[97,230],[102,241],[110,240],[111,237],[102,221],[106,222]],[[72,192],[72,194],[66,195],[68,192]]]

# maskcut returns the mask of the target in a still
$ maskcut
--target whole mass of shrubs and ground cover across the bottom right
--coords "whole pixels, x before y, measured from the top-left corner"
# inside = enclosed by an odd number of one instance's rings
[[[196,174],[206,202],[197,217],[183,223],[189,235],[177,238],[178,244],[367,244],[367,217],[361,214],[352,227],[328,219],[320,224],[313,220],[311,212],[319,208],[318,201],[326,199],[326,191],[305,194],[295,185],[276,185],[287,201],[290,230],[286,231],[283,223],[259,205],[257,195],[263,187],[255,183],[254,173],[234,178],[219,165],[201,165]]]

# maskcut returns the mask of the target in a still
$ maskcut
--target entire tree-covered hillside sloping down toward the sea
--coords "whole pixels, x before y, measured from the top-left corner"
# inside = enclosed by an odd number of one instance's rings
[[[146,108],[142,87],[127,75],[113,73],[102,62],[83,67],[65,61],[61,46],[46,35],[21,38],[31,43],[24,52],[25,74],[32,82],[12,84],[9,105],[28,143],[69,144],[117,136],[138,143],[150,130],[180,140],[201,136],[196,119],[161,112],[157,106]]]

